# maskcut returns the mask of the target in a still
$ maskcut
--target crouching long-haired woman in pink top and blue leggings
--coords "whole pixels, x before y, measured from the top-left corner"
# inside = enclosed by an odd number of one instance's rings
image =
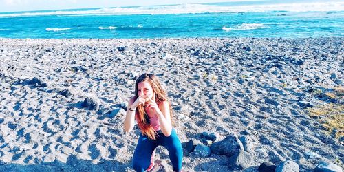
[[[134,127],[134,120],[140,128],[140,138],[133,153],[133,169],[153,169],[155,148],[159,145],[169,151],[173,171],[182,170],[182,144],[171,123],[171,104],[158,78],[153,74],[142,74],[135,83],[135,96],[130,98],[124,130]]]

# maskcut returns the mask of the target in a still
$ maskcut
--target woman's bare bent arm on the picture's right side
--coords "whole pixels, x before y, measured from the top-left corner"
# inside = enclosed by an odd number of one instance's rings
[[[156,111],[156,114],[159,118],[160,128],[164,136],[169,137],[172,132],[172,123],[171,123],[171,114],[169,108],[169,102],[163,101],[158,105],[159,110]]]

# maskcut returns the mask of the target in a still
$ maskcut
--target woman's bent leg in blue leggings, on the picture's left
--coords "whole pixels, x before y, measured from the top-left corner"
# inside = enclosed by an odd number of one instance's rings
[[[151,164],[151,155],[154,149],[158,147],[155,140],[149,140],[147,136],[138,138],[138,145],[133,153],[133,169],[135,171],[145,171]]]

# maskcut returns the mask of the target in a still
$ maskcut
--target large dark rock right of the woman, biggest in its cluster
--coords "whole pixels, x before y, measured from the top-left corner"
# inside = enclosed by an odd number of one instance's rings
[[[240,150],[244,150],[244,147],[235,134],[230,134],[224,140],[211,144],[211,151],[218,155],[232,156]]]

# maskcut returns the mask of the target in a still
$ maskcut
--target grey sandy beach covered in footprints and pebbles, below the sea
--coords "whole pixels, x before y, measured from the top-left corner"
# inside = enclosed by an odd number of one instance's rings
[[[0,39],[0,171],[133,171],[140,130],[122,127],[143,73],[166,89],[184,171],[235,171],[230,156],[187,147],[228,136],[246,140],[240,149],[252,158],[238,171],[286,160],[300,171],[343,168],[343,45],[343,37]],[[312,116],[331,106],[333,128]],[[166,149],[155,158],[172,171]]]

